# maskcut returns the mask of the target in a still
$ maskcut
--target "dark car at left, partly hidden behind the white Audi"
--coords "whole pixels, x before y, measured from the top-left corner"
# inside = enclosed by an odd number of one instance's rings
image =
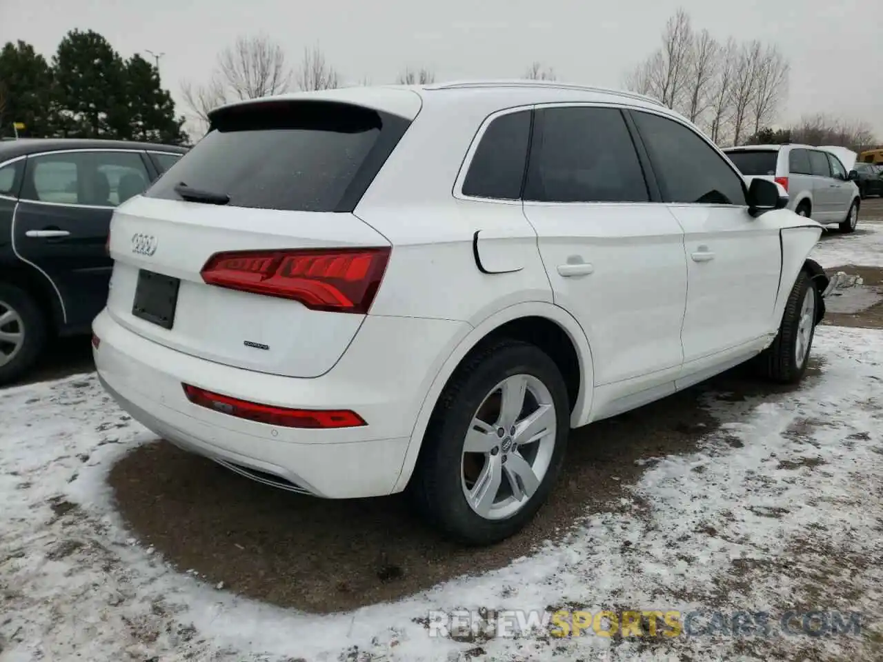
[[[185,152],[114,140],[0,143],[0,384],[26,372],[51,335],[89,333],[107,301],[114,208]]]

